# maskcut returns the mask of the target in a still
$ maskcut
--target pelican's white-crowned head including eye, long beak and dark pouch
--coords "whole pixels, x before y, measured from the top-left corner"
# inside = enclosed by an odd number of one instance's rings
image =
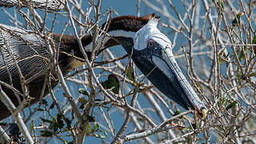
[[[151,14],[146,25],[133,37],[116,37],[134,63],[158,90],[186,110],[197,110],[206,117],[206,106],[182,74],[172,53],[170,39],[158,28],[158,18]]]

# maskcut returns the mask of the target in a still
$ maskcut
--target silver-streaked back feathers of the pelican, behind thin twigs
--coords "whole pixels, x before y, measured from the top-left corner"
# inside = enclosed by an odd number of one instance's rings
[[[49,54],[42,38],[38,38],[31,31],[0,25],[0,46],[0,79],[8,84],[8,71],[14,78],[20,75],[15,63],[18,64],[23,77],[30,78],[44,69],[49,62]]]

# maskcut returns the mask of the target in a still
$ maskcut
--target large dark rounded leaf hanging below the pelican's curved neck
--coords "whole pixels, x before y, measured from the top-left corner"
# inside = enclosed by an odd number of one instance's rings
[[[102,86],[106,90],[112,89],[112,92],[114,94],[119,93],[119,80],[118,80],[118,77],[114,74],[110,74],[107,77],[107,80],[105,82],[102,82]]]

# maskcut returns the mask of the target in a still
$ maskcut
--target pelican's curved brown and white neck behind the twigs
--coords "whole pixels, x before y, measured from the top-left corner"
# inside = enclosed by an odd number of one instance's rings
[[[126,52],[130,54],[131,48],[134,45],[135,35],[143,26],[145,26],[150,18],[154,17],[154,14],[146,15],[142,18],[137,18],[133,16],[122,16],[117,18],[112,18],[108,22],[102,24],[103,27],[107,27],[107,34],[102,34],[98,37],[97,46],[93,50],[93,41],[91,35],[84,36],[82,41],[83,49],[86,51],[88,58],[90,59],[92,51],[97,54],[100,54],[102,50],[109,48],[111,46],[122,45],[125,48]],[[54,41],[59,42],[61,38],[60,34],[53,34]],[[65,52],[67,55],[63,54]],[[61,38],[60,45],[60,56],[65,59],[63,62],[60,62],[62,66],[73,66],[76,68],[82,66],[82,62],[76,58],[70,58],[74,55],[78,58],[84,58],[80,47],[78,46],[78,41],[74,36],[63,35]],[[70,67],[66,67],[69,69]]]

